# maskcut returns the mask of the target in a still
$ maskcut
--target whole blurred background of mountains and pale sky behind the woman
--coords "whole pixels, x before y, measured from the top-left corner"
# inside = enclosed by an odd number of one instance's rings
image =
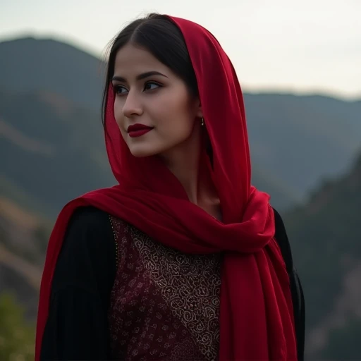
[[[253,183],[283,216],[305,290],[307,360],[361,360],[359,0],[1,1],[0,360],[33,358],[56,215],[115,183],[104,59],[151,11],[204,25],[233,61]]]

